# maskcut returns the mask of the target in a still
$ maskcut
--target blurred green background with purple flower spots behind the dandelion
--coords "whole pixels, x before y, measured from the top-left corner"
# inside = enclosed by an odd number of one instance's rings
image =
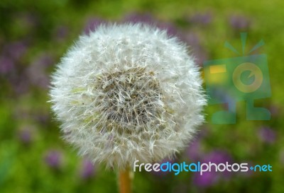
[[[155,23],[190,45],[200,66],[209,59],[236,57],[239,33],[247,49],[267,54],[271,98],[256,105],[269,121],[247,121],[237,103],[236,124],[207,122],[175,162],[214,161],[270,164],[273,172],[136,172],[133,192],[284,192],[283,46],[284,1],[0,1],[0,192],[117,192],[116,172],[92,165],[60,139],[50,113],[48,86],[55,64],[78,35],[99,23]]]

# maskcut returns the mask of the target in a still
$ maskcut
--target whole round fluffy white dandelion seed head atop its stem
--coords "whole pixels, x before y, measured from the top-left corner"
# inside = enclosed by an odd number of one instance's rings
[[[187,47],[143,24],[82,35],[52,77],[64,139],[93,162],[125,168],[171,158],[203,122],[206,100]]]

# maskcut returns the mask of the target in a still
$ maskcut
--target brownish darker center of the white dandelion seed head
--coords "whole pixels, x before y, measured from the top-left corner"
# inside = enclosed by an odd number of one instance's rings
[[[104,73],[97,83],[102,93],[97,106],[109,122],[129,128],[146,125],[160,116],[162,93],[152,71],[133,68]]]

